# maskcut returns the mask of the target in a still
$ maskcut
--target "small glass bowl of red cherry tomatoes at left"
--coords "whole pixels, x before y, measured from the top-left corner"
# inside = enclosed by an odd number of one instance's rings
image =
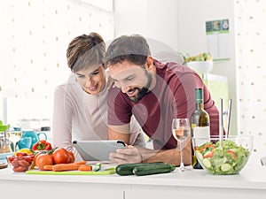
[[[7,156],[6,160],[14,172],[26,172],[34,162],[34,154],[17,153],[17,156]]]

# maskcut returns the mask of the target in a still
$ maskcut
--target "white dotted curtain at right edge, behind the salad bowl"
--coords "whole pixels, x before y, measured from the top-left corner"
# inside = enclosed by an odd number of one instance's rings
[[[239,133],[254,135],[252,161],[266,156],[266,1],[236,2]]]

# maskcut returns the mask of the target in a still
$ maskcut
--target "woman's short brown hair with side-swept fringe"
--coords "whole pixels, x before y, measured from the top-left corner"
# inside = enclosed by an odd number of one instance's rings
[[[67,65],[76,73],[90,65],[103,65],[106,57],[106,43],[97,33],[75,37],[66,50]]]

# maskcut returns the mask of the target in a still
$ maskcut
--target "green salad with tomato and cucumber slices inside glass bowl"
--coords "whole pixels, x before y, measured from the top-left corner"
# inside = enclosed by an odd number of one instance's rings
[[[246,165],[249,154],[248,149],[230,140],[223,141],[222,148],[220,142],[207,142],[195,149],[200,165],[207,172],[221,175],[239,173]]]

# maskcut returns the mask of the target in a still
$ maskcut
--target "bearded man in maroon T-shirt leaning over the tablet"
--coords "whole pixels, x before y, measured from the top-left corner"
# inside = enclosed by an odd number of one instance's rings
[[[110,154],[116,164],[158,162],[180,164],[172,135],[174,118],[189,118],[195,110],[195,88],[202,88],[211,134],[218,134],[219,114],[200,76],[184,65],[161,64],[151,57],[145,38],[122,35],[106,51],[114,88],[108,96],[108,136],[129,143],[129,119],[134,115],[154,149],[128,146]],[[184,165],[192,164],[190,139],[184,143]]]

